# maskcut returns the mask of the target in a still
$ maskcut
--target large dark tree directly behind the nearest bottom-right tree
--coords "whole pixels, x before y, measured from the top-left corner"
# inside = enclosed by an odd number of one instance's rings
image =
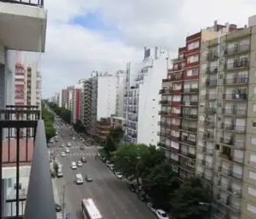
[[[178,175],[167,161],[159,162],[143,180],[143,190],[155,207],[170,209],[170,196],[178,189]]]

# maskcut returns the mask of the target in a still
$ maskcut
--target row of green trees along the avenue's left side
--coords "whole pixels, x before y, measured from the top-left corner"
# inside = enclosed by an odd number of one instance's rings
[[[45,121],[45,134],[46,134],[46,140],[49,142],[49,140],[55,136],[56,134],[56,128],[54,128],[54,116],[51,112],[49,112],[47,109],[45,109],[45,104],[42,102],[42,120]]]

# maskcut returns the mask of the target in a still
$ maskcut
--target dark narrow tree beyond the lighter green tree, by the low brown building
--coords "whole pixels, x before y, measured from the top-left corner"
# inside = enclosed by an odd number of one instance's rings
[[[111,153],[117,149],[123,136],[124,131],[121,127],[110,128],[110,132],[104,145],[105,153],[107,153],[108,156],[110,156]]]

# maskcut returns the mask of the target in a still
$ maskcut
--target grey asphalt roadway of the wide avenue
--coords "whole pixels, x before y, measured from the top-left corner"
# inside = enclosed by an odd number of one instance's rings
[[[65,186],[65,202],[66,213],[72,212],[78,219],[81,215],[81,200],[92,198],[97,204],[99,211],[104,219],[153,219],[154,214],[148,210],[146,204],[140,201],[135,193],[127,188],[127,184],[118,180],[116,176],[110,172],[107,166],[99,159],[95,160],[97,153],[96,147],[86,147],[86,150],[80,150],[82,142],[77,138],[72,140],[69,136],[70,128],[65,127],[61,131],[64,137],[59,136],[59,142],[53,143],[51,147],[56,148],[55,155],[59,158],[63,165],[64,177],[57,179],[57,185],[60,193],[63,193],[63,185]],[[61,148],[59,145],[64,142],[72,143],[70,155],[61,157]],[[90,145],[89,145],[90,146]],[[70,164],[72,161],[78,161],[84,155],[87,158],[87,164],[72,170]],[[89,174],[94,180],[91,183],[83,183],[83,185],[75,184],[75,174],[81,173],[83,176]]]

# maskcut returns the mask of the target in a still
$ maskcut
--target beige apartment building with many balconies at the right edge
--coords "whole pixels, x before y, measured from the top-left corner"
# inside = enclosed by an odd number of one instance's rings
[[[256,218],[256,22],[202,42],[196,173],[216,218]]]

